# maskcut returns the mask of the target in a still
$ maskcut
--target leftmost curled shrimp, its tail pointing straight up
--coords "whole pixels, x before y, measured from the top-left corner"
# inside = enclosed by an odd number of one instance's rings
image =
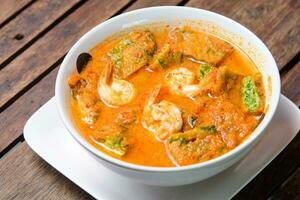
[[[118,107],[131,102],[136,91],[130,82],[112,77],[112,63],[109,63],[100,76],[98,94],[105,105]]]

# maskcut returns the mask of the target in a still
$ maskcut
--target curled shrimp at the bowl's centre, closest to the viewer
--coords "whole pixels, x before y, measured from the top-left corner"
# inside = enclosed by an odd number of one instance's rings
[[[182,118],[181,111],[175,104],[166,100],[154,103],[159,91],[160,87],[157,87],[150,95],[144,107],[142,125],[152,132],[158,141],[163,141],[170,134],[181,130]]]

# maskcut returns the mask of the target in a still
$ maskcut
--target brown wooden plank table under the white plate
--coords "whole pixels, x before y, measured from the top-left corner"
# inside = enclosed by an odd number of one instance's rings
[[[129,10],[192,6],[240,22],[271,50],[282,93],[300,106],[300,0],[0,0],[0,5],[0,199],[92,199],[39,158],[22,130],[54,95],[68,49],[95,25]],[[300,199],[299,134],[235,197],[266,198]]]

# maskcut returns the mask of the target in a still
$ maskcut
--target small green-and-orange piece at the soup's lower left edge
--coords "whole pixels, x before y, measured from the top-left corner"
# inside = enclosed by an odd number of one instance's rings
[[[123,156],[128,149],[128,145],[124,142],[124,137],[120,135],[115,137],[107,136],[105,139],[98,140],[98,142],[105,149],[120,156]]]

